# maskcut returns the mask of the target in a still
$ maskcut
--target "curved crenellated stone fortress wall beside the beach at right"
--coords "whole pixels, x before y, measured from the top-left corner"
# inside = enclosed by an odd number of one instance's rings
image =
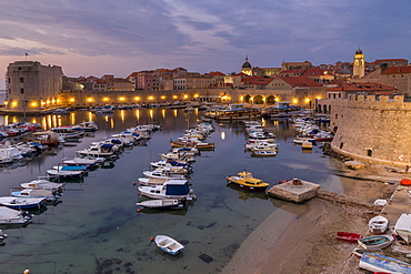
[[[368,163],[411,166],[411,103],[403,95],[332,100],[333,151]]]

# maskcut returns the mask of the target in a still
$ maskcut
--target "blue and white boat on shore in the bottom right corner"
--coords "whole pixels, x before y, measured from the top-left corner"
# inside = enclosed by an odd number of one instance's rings
[[[411,264],[373,253],[363,254],[359,266],[374,273],[411,273]]]

